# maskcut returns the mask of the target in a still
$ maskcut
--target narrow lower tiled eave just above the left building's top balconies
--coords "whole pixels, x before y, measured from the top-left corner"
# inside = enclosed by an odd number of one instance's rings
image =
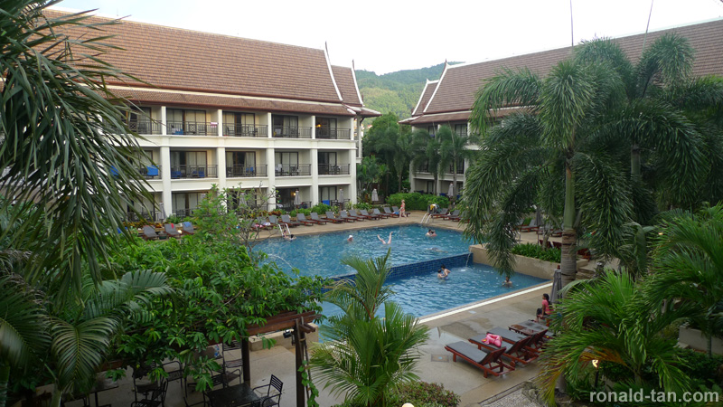
[[[241,109],[261,111],[283,111],[307,114],[327,114],[335,116],[354,116],[342,104],[302,102],[295,100],[255,99],[241,96],[223,96],[210,93],[137,90],[114,88],[113,93],[136,104],[161,104],[169,106],[189,106],[212,109]]]

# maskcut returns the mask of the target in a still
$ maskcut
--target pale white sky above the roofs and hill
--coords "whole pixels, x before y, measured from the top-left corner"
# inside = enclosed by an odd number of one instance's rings
[[[324,48],[375,71],[483,62],[568,46],[569,0],[66,0],[133,21]],[[643,33],[651,0],[572,0],[575,43]],[[723,16],[723,0],[654,0],[651,31]],[[721,33],[723,34],[723,33]]]

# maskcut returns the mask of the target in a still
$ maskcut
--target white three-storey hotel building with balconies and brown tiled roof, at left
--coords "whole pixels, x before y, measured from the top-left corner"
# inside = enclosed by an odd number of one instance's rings
[[[119,47],[103,60],[143,81],[109,83],[135,105],[127,124],[151,158],[139,171],[155,203],[136,211],[186,216],[211,185],[249,204],[274,192],[269,209],[355,202],[361,122],[380,113],[364,108],[352,67],[325,49],[130,21],[103,30]]]

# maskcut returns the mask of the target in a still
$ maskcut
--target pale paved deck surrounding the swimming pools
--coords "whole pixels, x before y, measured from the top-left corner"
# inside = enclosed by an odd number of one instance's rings
[[[387,219],[380,221],[364,221],[352,223],[327,223],[316,226],[298,226],[292,228],[296,235],[315,234],[323,232],[354,231],[369,227],[384,227],[402,224],[418,224],[423,212],[412,212],[404,218]],[[452,229],[462,231],[464,224],[459,222],[434,220],[428,223],[432,229]],[[527,235],[527,236],[526,236]],[[261,232],[262,238],[279,238],[280,232]],[[522,233],[522,241],[536,241],[535,233]],[[512,278],[514,281],[514,278]],[[510,391],[518,384],[531,380],[540,374],[540,367],[537,362],[528,365],[518,364],[516,370],[500,377],[490,375],[484,378],[481,370],[464,360],[452,361],[452,355],[445,350],[445,345],[459,340],[466,340],[469,337],[486,333],[487,329],[493,327],[508,327],[517,322],[533,318],[535,310],[540,307],[542,294],[549,292],[550,283],[542,283],[529,289],[511,294],[504,294],[495,298],[485,299],[474,304],[448,309],[446,311],[420,318],[420,322],[429,327],[429,340],[419,348],[421,358],[417,368],[417,374],[421,380],[431,383],[442,383],[446,389],[452,390],[462,397],[460,406],[476,407],[487,405],[496,399],[498,394]],[[423,298],[420,298],[423,300]],[[251,385],[258,386],[267,384],[271,374],[277,375],[284,382],[284,393],[281,398],[281,407],[296,406],[296,372],[295,355],[293,350],[283,346],[275,346],[251,352]],[[133,402],[133,383],[127,378],[122,379],[117,389],[99,393],[100,403],[112,402],[115,406],[125,406]],[[234,382],[238,383],[238,382]],[[330,407],[333,404],[343,401],[342,397],[333,397],[324,390],[321,383],[319,386],[321,395],[317,401],[322,407]],[[519,392],[518,392],[519,393]],[[503,397],[511,397],[506,393]],[[201,402],[200,393],[189,392],[189,403]],[[487,402],[485,402],[487,401]],[[507,405],[504,398],[500,401]],[[512,402],[512,400],[510,400]],[[535,405],[515,401],[514,405]],[[80,402],[67,402],[69,407],[79,407]],[[170,407],[182,407],[183,392],[178,382],[169,384],[165,405]],[[511,404],[512,405],[512,404]]]

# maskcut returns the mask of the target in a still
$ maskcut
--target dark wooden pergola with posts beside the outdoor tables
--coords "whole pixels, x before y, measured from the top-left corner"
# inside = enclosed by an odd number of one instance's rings
[[[247,336],[241,340],[241,358],[243,359],[243,381],[250,383],[251,366],[249,364],[250,350],[249,337],[262,334],[270,334],[272,332],[292,330],[292,336],[296,345],[296,407],[305,407],[306,394],[305,386],[302,383],[302,373],[300,368],[303,365],[304,345],[306,345],[306,334],[310,334],[316,330],[315,327],[309,325],[317,317],[314,311],[306,311],[298,313],[296,311],[288,311],[277,314],[274,317],[268,317],[266,324],[252,325],[247,328]]]

